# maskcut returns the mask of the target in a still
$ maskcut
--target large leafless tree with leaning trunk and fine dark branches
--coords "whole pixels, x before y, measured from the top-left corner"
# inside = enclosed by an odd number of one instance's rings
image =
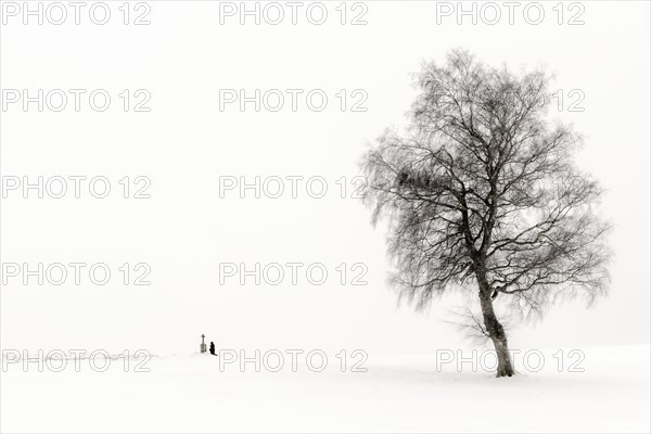
[[[601,190],[572,159],[579,136],[547,120],[549,81],[455,50],[417,76],[406,131],[387,130],[362,159],[373,222],[390,221],[393,283],[417,308],[478,290],[497,376],[514,371],[496,304],[527,319],[609,283]]]

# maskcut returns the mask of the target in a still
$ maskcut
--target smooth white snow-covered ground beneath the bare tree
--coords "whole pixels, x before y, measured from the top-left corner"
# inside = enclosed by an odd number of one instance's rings
[[[464,352],[462,369],[450,354],[370,357],[324,352],[312,372],[304,355],[295,371],[288,353],[279,372],[272,352],[260,372],[253,362],[225,363],[201,354],[153,357],[150,372],[129,372],[114,359],[95,372],[2,372],[2,432],[649,432],[649,346],[529,352],[515,356],[520,374],[495,379],[490,357]],[[281,352],[282,353],[282,352]],[[554,357],[556,354],[556,357]],[[232,354],[230,354],[232,356]],[[253,353],[246,353],[252,356]],[[458,355],[452,353],[456,358]],[[538,371],[539,356],[544,367]],[[227,357],[224,355],[222,357]],[[98,359],[98,365],[101,365]],[[437,366],[438,362],[438,366]],[[312,368],[320,365],[312,358]],[[475,369],[476,368],[476,369]],[[573,372],[580,371],[583,372]],[[473,372],[476,370],[475,372]]]

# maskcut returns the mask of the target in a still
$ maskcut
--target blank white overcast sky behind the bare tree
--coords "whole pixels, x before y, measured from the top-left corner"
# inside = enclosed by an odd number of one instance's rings
[[[537,327],[513,331],[511,347],[649,342],[648,2],[585,1],[577,26],[557,23],[556,2],[542,2],[538,26],[518,12],[514,25],[506,17],[458,25],[454,16],[437,25],[436,2],[426,1],[367,2],[362,26],[340,25],[339,2],[328,3],[322,26],[305,15],[296,26],[242,26],[220,25],[218,2],[155,1],[151,25],[124,26],[122,2],[108,3],[115,15],[105,26],[85,15],[79,26],[25,26],[20,17],[2,26],[2,89],[101,88],[114,97],[103,113],[10,106],[1,113],[2,175],[103,175],[114,190],[105,200],[14,192],[2,201],[1,255],[103,261],[114,271],[143,261],[152,285],[125,288],[117,271],[105,286],[13,279],[0,294],[3,348],[188,353],[202,332],[224,347],[365,348],[370,357],[459,345],[462,335],[443,322],[451,299],[430,315],[396,307],[384,228],[373,229],[369,210],[340,199],[334,183],[358,175],[366,142],[405,124],[409,74],[455,47],[490,64],[546,64],[556,88],[585,93],[583,113],[551,114],[585,133],[578,161],[605,187],[603,210],[615,226],[610,297],[590,310],[580,303],[551,310]],[[320,113],[304,105],[241,113],[234,104],[220,112],[219,89],[241,88],[323,89],[330,102]],[[123,89],[148,89],[151,112],[122,112]],[[341,89],[366,91],[368,111],[342,113]],[[140,175],[151,179],[152,199],[120,199],[117,180]],[[322,176],[330,190],[321,200],[305,190],[298,199],[220,199],[220,176]],[[221,261],[321,261],[331,278],[322,286],[220,286]],[[341,263],[366,264],[369,284],[340,285]]]

